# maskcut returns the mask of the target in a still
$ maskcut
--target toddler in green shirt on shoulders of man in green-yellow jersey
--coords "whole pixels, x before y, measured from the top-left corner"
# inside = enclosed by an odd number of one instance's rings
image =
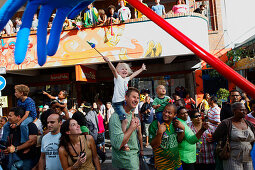
[[[162,112],[165,106],[169,104],[170,97],[166,96],[166,88],[163,85],[158,85],[156,88],[157,97],[152,103],[153,109],[155,109],[156,118],[160,123],[163,123]]]

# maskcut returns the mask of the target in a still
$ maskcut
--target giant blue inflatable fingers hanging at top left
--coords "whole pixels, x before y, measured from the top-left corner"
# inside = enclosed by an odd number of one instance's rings
[[[22,7],[28,0],[7,0],[0,9],[0,30],[3,30],[9,19],[15,12]],[[60,34],[65,18],[74,19],[83,9],[94,0],[29,0],[22,17],[22,25],[17,34],[16,46],[14,51],[15,63],[21,64],[27,53],[28,37],[32,26],[33,16],[39,6],[39,22],[37,28],[37,57],[38,64],[43,66],[47,55],[53,56],[58,49]],[[56,16],[50,30],[50,37],[47,41],[47,27],[53,10],[57,10]]]

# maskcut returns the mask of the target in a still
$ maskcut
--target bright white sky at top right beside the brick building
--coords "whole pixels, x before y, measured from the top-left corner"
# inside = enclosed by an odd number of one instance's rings
[[[222,0],[226,4],[226,41],[240,43],[255,34],[255,0]],[[224,11],[223,11],[224,12]]]

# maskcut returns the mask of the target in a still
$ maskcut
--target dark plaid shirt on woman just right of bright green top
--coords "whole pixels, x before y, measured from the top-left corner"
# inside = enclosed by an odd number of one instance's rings
[[[193,125],[193,123],[188,124],[190,129],[196,134],[198,131]],[[214,143],[208,143],[206,141],[206,137],[208,134],[212,134],[213,131],[209,128],[206,130],[201,139],[200,142],[197,143],[197,164],[214,164],[215,159],[214,159],[214,151],[215,151],[215,144]]]

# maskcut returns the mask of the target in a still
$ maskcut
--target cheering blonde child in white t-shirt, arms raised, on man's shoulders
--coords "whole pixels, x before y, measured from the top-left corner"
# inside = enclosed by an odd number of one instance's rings
[[[114,76],[114,92],[112,98],[112,106],[115,112],[119,115],[119,119],[122,121],[121,128],[123,133],[125,133],[128,122],[126,119],[126,112],[123,108],[123,104],[125,100],[125,93],[128,90],[128,81],[132,80],[142,71],[146,70],[146,66],[145,64],[143,64],[139,70],[132,73],[129,65],[126,63],[118,63],[117,67],[115,68],[107,57],[103,56],[103,59],[108,63]],[[128,151],[129,147],[125,145],[123,150]]]

